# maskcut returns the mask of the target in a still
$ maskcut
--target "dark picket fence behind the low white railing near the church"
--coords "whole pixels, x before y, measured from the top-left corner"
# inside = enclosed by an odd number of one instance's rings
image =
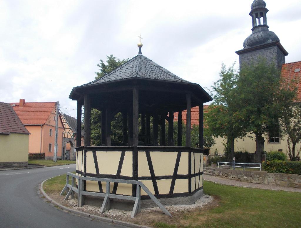
[[[209,163],[217,163],[217,162],[233,162],[231,158],[231,154],[207,154],[209,156]],[[247,153],[235,153],[235,162],[237,163],[253,163],[254,162],[254,154]]]

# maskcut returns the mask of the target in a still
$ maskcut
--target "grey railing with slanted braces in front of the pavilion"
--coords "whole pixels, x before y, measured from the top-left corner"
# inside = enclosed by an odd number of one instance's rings
[[[69,184],[69,178],[71,179],[71,185]],[[76,187],[76,179],[78,180],[78,188]],[[87,192],[84,191],[84,181],[103,181],[106,182],[106,192]],[[110,192],[110,182],[114,183],[125,183],[125,184],[135,184],[136,185],[136,196],[128,196],[128,195],[117,195],[111,194]],[[77,193],[77,204],[78,207],[82,207],[84,204],[83,195],[90,195],[96,197],[103,197],[104,201],[101,206],[101,213],[104,213],[106,210],[110,210],[110,198],[117,198],[123,200],[131,200],[135,201],[134,208],[131,214],[131,218],[134,218],[137,213],[140,212],[140,204],[141,204],[141,188],[147,195],[157,204],[158,207],[163,211],[164,214],[171,216],[171,214],[166,210],[166,208],[160,203],[160,201],[151,193],[151,191],[141,182],[136,180],[123,180],[123,179],[110,179],[110,178],[97,178],[97,177],[89,177],[89,176],[78,176],[73,173],[67,173],[66,176],[66,185],[63,188],[61,195],[66,192],[65,200],[69,198],[71,195],[71,199],[74,198],[74,193]]]

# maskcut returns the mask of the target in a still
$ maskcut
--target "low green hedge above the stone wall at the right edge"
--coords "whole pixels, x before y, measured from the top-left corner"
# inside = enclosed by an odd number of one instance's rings
[[[267,161],[262,162],[262,167],[268,173],[289,173],[301,175],[301,162],[297,161]]]

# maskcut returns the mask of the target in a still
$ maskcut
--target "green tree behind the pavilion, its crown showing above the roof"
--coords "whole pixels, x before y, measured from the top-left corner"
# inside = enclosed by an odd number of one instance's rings
[[[99,72],[95,72],[97,75],[95,79],[99,79],[104,75],[118,68],[129,59],[119,60],[113,55],[107,56],[107,64],[101,59],[97,64]],[[111,122],[111,140],[120,142],[122,141],[122,114],[119,112],[113,118]],[[91,109],[91,141],[95,146],[101,145],[101,111],[97,109]]]

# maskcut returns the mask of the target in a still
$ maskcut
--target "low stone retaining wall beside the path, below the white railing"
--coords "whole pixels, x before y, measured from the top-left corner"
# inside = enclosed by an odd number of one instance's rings
[[[204,174],[241,182],[301,188],[301,175],[297,174],[220,169],[209,166],[204,166]]]

